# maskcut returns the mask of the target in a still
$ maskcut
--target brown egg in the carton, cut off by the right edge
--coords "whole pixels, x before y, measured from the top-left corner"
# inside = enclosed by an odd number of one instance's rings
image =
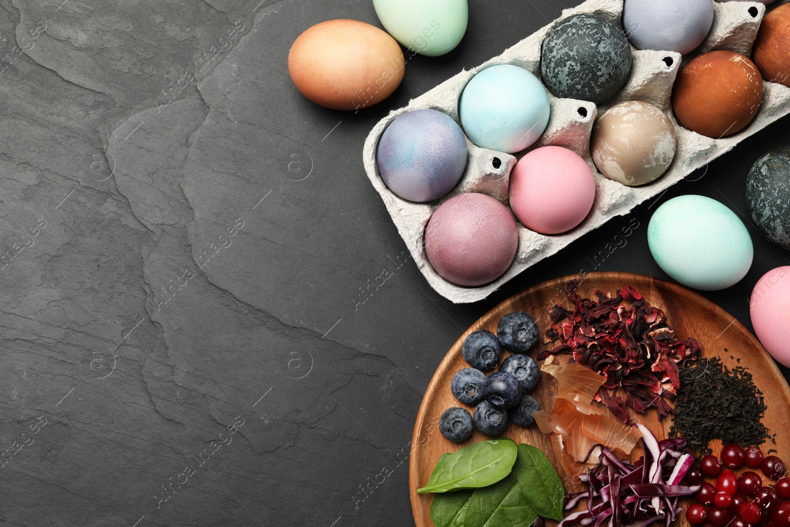
[[[762,78],[790,87],[790,4],[762,19],[752,55]]]

